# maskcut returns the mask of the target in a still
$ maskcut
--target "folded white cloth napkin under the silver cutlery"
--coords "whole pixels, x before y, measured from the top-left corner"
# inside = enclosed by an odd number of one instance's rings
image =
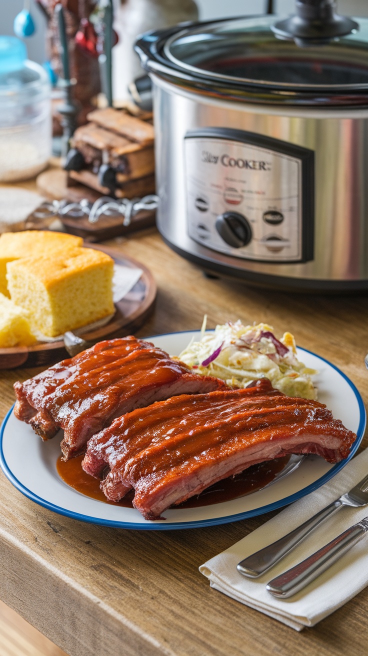
[[[258,579],[239,574],[237,563],[258,549],[283,537],[324,506],[348,492],[368,473],[368,449],[352,459],[331,481],[296,501],[222,554],[199,567],[211,587],[301,631],[314,626],[340,608],[368,584],[368,534],[340,560],[295,596],[279,600],[266,590],[266,583],[307,558],[354,523],[368,516],[368,506],[344,506],[325,520],[281,562]]]

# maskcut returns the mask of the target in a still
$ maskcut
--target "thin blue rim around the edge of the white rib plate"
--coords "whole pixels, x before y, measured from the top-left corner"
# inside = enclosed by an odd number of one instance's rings
[[[192,331],[180,331],[180,333],[190,333]],[[173,334],[180,334],[180,333],[171,333]],[[154,339],[157,337],[165,337],[165,335],[154,335],[153,337],[147,337],[146,339]],[[312,356],[316,356],[312,351],[308,351],[305,348],[300,348],[298,347],[299,351],[304,351],[306,353],[309,353]],[[207,526],[214,526],[214,525],[219,525],[219,524],[224,524],[224,523],[230,523],[230,522],[239,522],[240,520],[247,519],[249,517],[254,517],[257,515],[262,515],[266,512],[270,512],[271,510],[277,510],[278,508],[282,508],[283,506],[286,506],[290,503],[293,503],[294,501],[297,501],[298,499],[301,499],[302,497],[305,497],[306,495],[310,494],[317,488],[321,487],[325,483],[327,483],[333,476],[337,474],[346,464],[348,461],[352,459],[352,457],[355,455],[356,451],[358,451],[359,445],[361,443],[361,440],[363,439],[364,432],[365,432],[365,425],[366,425],[366,412],[365,412],[365,406],[363,403],[363,400],[361,398],[361,395],[358,392],[358,389],[354,385],[354,383],[340,370],[338,367],[335,367],[329,360],[322,358],[321,356],[316,356],[319,360],[324,361],[329,365],[329,367],[332,367],[337,371],[337,373],[348,383],[350,388],[352,389],[352,392],[354,392],[354,396],[356,397],[356,400],[358,401],[358,407],[359,407],[359,424],[358,424],[358,430],[356,431],[357,434],[357,439],[354,441],[354,444],[352,445],[352,449],[350,450],[350,453],[348,457],[335,464],[328,472],[323,474],[320,478],[318,478],[316,481],[313,483],[310,483],[310,485],[307,485],[301,490],[298,490],[292,495],[289,495],[288,497],[284,497],[283,499],[279,499],[278,501],[275,501],[273,503],[267,504],[266,506],[262,506],[259,508],[253,508],[252,510],[247,510],[245,512],[240,512],[235,515],[227,515],[223,517],[218,517],[218,518],[211,518],[207,520],[196,520],[194,522],[172,522],[172,523],[155,523],[155,522],[146,522],[145,520],[142,520],[140,523],[133,523],[133,522],[118,522],[116,520],[107,520],[104,518],[96,518],[90,515],[84,515],[79,512],[74,512],[72,510],[68,510],[67,508],[63,508],[62,506],[57,506],[56,504],[53,504],[50,501],[47,501],[47,499],[43,499],[42,497],[39,497],[35,493],[33,493],[28,487],[23,485],[16,476],[12,473],[10,470],[7,461],[5,459],[4,451],[3,451],[3,437],[4,437],[4,431],[5,427],[7,426],[7,422],[9,420],[10,415],[12,414],[12,410],[14,408],[14,405],[10,408],[9,412],[7,413],[5,419],[3,420],[3,424],[1,424],[1,430],[0,430],[0,466],[1,469],[3,470],[5,476],[9,479],[10,483],[16,487],[24,496],[28,497],[28,499],[31,499],[31,501],[35,501],[35,503],[39,504],[40,506],[43,506],[44,508],[47,508],[48,510],[52,510],[53,512],[56,512],[60,515],[64,515],[66,517],[70,517],[75,520],[80,520],[82,522],[87,522],[87,523],[94,523],[97,525],[102,525],[102,526],[109,526],[109,527],[114,527],[114,528],[125,528],[125,529],[133,529],[133,530],[143,530],[143,531],[173,531],[175,529],[192,529],[192,528],[200,528],[200,527],[207,527]]]

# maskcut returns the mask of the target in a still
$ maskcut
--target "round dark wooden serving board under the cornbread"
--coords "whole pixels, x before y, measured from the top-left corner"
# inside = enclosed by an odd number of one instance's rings
[[[92,346],[100,340],[124,337],[137,330],[152,312],[157,290],[152,274],[141,262],[128,256],[117,255],[113,249],[100,245],[85,243],[85,247],[104,251],[113,258],[116,264],[142,269],[143,272],[133,289],[115,303],[116,312],[109,323],[88,333],[76,331],[79,337],[83,337]],[[28,347],[0,348],[0,369],[50,365],[69,357],[62,340],[48,343],[38,342],[34,346]]]

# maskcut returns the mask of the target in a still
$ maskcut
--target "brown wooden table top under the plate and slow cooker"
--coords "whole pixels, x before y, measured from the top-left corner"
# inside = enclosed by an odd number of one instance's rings
[[[368,296],[297,295],[207,279],[155,230],[107,243],[141,260],[157,281],[153,316],[138,337],[265,321],[331,360],[367,404]],[[12,383],[35,369],[0,372],[1,419]],[[363,442],[367,445],[367,438]],[[297,633],[212,590],[199,565],[272,514],[209,528],[130,531],[72,520],[23,497],[0,473],[0,598],[70,656],[361,656],[368,588]]]

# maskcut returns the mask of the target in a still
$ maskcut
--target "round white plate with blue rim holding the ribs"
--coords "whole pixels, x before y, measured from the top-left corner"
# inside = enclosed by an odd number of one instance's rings
[[[179,354],[199,331],[150,337],[155,346]],[[299,468],[270,487],[245,497],[200,508],[171,508],[166,520],[147,522],[138,510],[113,506],[77,492],[58,476],[56,460],[60,455],[57,438],[47,442],[35,436],[30,426],[14,417],[10,409],[0,432],[0,465],[3,472],[26,497],[62,515],[106,526],[129,529],[182,529],[236,522],[269,510],[281,508],[320,487],[352,458],[365,430],[365,407],[361,396],[342,371],[323,358],[302,348],[298,358],[319,371],[316,376],[318,399],[331,409],[336,419],[358,438],[349,457],[332,465],[317,456],[306,458]]]

